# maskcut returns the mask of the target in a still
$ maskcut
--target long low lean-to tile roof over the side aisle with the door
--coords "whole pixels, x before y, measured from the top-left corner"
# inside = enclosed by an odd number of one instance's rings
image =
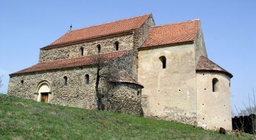
[[[122,50],[110,53],[100,53],[99,55],[89,55],[84,57],[77,57],[73,59],[64,59],[64,60],[55,60],[50,62],[42,62],[35,64],[34,66],[28,67],[27,69],[23,69],[13,74],[21,74],[21,73],[31,73],[35,71],[47,71],[52,69],[63,69],[68,67],[79,67],[79,66],[87,66],[92,64],[97,64],[100,61],[110,61],[116,59],[118,57],[122,57],[125,53],[129,52],[129,50]]]

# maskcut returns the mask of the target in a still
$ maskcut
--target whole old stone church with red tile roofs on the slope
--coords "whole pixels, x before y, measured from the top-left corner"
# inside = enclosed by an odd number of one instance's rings
[[[147,14],[68,31],[10,74],[8,95],[231,130],[230,78],[207,58],[200,20]]]

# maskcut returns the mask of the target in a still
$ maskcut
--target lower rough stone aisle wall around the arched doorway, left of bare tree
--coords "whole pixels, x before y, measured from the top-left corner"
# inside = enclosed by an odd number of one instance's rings
[[[8,95],[15,95],[26,99],[34,99],[36,88],[41,81],[48,81],[51,86],[51,101],[53,104],[63,106],[76,106],[86,109],[97,109],[95,96],[95,75],[96,68],[76,67],[72,69],[61,69],[54,71],[43,71],[29,74],[19,74],[11,76]],[[89,74],[89,84],[85,83],[85,75]],[[67,85],[64,84],[63,77],[67,76]],[[24,83],[20,83],[24,80]]]

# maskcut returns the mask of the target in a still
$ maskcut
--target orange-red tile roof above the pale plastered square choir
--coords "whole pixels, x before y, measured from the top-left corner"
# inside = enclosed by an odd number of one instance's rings
[[[194,41],[200,20],[159,25],[150,28],[141,48]]]

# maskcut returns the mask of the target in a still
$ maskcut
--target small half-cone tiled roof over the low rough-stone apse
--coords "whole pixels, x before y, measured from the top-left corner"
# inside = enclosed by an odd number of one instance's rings
[[[117,71],[115,74],[111,75],[109,80],[111,82],[116,82],[116,83],[134,83],[136,85],[140,85],[143,88],[143,85],[138,83],[138,81],[134,80],[129,74],[124,71]]]

